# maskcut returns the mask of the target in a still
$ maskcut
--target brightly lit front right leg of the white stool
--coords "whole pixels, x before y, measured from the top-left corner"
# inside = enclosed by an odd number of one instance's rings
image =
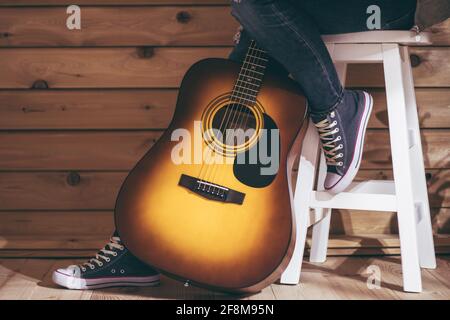
[[[397,198],[397,219],[402,256],[403,288],[421,292],[417,222],[406,121],[406,92],[402,56],[397,44],[383,44],[383,63],[389,116],[392,164]]]

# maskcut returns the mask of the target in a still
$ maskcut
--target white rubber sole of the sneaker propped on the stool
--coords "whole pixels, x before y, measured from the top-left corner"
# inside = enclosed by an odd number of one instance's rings
[[[356,139],[355,152],[353,154],[352,162],[345,173],[345,175],[331,188],[326,189],[326,191],[331,193],[339,193],[344,191],[355,179],[358,173],[359,166],[361,165],[362,153],[364,149],[364,138],[366,136],[367,124],[369,123],[370,114],[372,113],[373,98],[367,92],[364,92],[365,103],[364,103],[364,113],[361,117],[359,124],[358,136]]]

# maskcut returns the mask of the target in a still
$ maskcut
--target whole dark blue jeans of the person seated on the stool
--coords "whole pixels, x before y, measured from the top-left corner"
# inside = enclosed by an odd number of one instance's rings
[[[312,114],[329,113],[344,90],[321,35],[369,31],[371,5],[380,8],[380,29],[414,24],[416,0],[232,0],[243,30],[229,58],[243,61],[254,39],[271,57],[268,69],[300,84]]]

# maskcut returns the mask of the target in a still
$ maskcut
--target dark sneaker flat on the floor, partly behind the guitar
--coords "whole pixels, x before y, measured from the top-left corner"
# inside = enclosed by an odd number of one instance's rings
[[[116,235],[94,258],[53,272],[53,282],[69,289],[155,286],[159,273],[138,260]]]

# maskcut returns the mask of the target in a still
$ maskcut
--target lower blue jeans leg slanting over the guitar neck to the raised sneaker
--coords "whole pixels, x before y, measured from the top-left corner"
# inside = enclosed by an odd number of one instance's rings
[[[234,0],[232,15],[302,87],[312,113],[332,110],[343,88],[314,21],[287,0]]]

